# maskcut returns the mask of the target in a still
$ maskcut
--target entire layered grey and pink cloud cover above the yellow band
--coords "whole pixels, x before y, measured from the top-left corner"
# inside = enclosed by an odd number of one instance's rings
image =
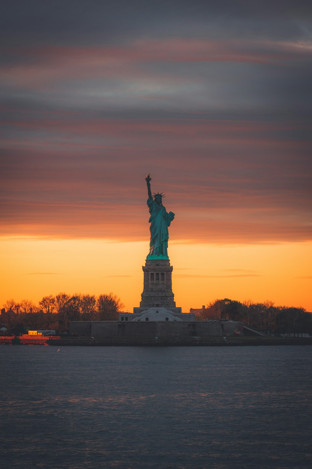
[[[3,234],[144,239],[151,172],[173,240],[311,239],[310,2],[13,1],[0,18]]]

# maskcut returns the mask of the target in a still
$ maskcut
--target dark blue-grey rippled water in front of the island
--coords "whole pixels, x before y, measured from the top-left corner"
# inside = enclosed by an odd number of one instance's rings
[[[312,347],[0,346],[3,468],[311,468]]]

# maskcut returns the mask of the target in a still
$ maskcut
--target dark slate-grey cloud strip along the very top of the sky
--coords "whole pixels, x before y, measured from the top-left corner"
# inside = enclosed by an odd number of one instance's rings
[[[6,2],[2,38],[10,43],[109,44],[137,37],[296,38],[307,34],[311,2],[23,0]]]

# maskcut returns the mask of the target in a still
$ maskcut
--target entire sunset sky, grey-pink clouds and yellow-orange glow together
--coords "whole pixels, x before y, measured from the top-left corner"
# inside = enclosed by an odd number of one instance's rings
[[[311,1],[13,0],[0,36],[0,306],[139,306],[151,173],[182,311],[312,311]]]

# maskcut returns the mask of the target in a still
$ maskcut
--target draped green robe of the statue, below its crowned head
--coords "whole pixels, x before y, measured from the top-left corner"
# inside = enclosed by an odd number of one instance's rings
[[[168,248],[168,227],[170,226],[171,217],[163,205],[158,205],[153,199],[147,200],[150,211],[150,219],[148,220],[151,231],[150,256],[167,256]]]

